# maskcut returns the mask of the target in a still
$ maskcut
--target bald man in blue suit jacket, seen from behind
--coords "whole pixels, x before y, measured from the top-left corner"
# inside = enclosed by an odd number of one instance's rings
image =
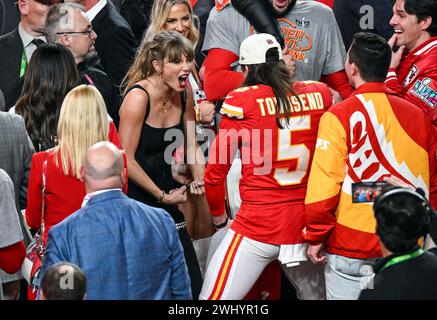
[[[122,153],[110,142],[93,145],[81,177],[84,205],[50,229],[42,276],[68,261],[87,275],[88,299],[191,299],[174,221],[123,194]]]

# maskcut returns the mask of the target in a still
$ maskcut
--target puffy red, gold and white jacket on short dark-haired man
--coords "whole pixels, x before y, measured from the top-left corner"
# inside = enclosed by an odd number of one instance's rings
[[[320,120],[308,180],[305,240],[349,258],[380,256],[373,203],[352,203],[351,184],[396,176],[425,190],[435,206],[432,131],[418,107],[386,94],[382,83],[366,83],[330,108]]]

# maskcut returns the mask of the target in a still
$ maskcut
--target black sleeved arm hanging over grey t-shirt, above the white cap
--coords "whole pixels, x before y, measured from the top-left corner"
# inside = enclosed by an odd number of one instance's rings
[[[232,0],[232,6],[249,20],[257,32],[270,33],[284,48],[284,36],[268,0]]]

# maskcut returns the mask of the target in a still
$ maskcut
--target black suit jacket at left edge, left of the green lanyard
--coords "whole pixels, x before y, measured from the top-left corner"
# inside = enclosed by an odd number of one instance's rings
[[[22,55],[23,42],[18,28],[0,37],[0,90],[5,97],[20,77]]]

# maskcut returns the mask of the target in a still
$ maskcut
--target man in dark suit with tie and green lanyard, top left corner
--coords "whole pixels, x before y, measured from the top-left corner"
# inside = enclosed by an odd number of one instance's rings
[[[18,0],[20,23],[0,37],[0,90],[7,98],[9,89],[24,75],[36,48],[45,42],[43,36],[47,12],[59,0]]]

